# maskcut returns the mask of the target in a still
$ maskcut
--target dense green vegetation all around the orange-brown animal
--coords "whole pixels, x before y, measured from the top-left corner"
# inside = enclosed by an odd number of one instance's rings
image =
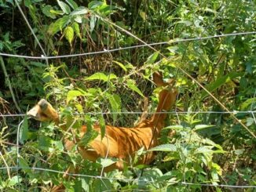
[[[25,114],[40,98],[47,98],[72,124],[74,134],[82,124],[99,123],[102,129],[105,124],[132,126],[139,115],[118,112],[145,110],[144,97],[150,100],[148,112],[155,110],[158,90],[150,81],[154,71],[162,71],[166,79],[176,79],[179,96],[175,110],[188,112],[170,114],[161,145],[153,149],[158,154],[152,165],[137,165],[135,159],[123,172],[104,173],[106,179],[76,176],[69,180],[57,172],[26,167],[64,172],[69,165],[79,165],[81,174],[99,176],[101,168],[115,159],[90,162],[75,150],[67,152],[63,138],[70,133],[53,123],[39,125],[26,117],[2,117],[0,165],[9,167],[0,171],[2,191],[47,191],[60,182],[68,191],[231,190],[181,182],[256,185],[256,139],[251,134],[256,132],[255,113],[235,113],[239,121],[231,114],[193,113],[225,110],[182,71],[229,110],[256,110],[256,34],[175,42],[256,31],[254,1],[18,2],[46,56],[141,45],[141,40],[169,43],[155,45],[159,52],[144,46],[49,60],[0,56],[1,114]],[[0,53],[44,55],[16,2],[0,0],[0,8]],[[169,135],[171,130],[176,131],[174,136]],[[85,145],[92,136],[87,136]],[[16,138],[20,140],[18,163],[23,167],[18,169]],[[144,153],[138,151],[137,157]]]

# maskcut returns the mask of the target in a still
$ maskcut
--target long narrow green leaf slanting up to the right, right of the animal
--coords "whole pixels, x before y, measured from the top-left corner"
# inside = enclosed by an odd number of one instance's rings
[[[240,77],[243,73],[236,73],[236,72],[231,72],[229,74],[226,74],[223,77],[220,77],[216,80],[216,82],[212,82],[209,85],[205,86],[205,88],[209,91],[209,92],[213,92],[214,90],[218,89],[219,87],[221,87],[221,85],[225,85],[225,83],[230,82],[232,79]],[[200,92],[201,94],[201,99],[203,99],[204,97],[206,97],[208,95],[208,93],[204,90],[202,90]]]

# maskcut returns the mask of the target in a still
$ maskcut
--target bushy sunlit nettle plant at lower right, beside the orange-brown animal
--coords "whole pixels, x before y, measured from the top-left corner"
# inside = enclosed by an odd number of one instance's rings
[[[196,119],[196,114],[188,112],[180,125],[170,125],[163,129],[163,132],[175,130],[176,133],[174,137],[167,138],[169,143],[150,150],[165,152],[163,162],[167,165],[170,162],[172,165],[171,170],[157,180],[169,182],[169,187],[181,182],[212,184],[220,182],[222,169],[214,162],[214,154],[224,154],[225,150],[212,140],[200,135],[200,131],[214,127],[214,125],[200,125],[200,121]],[[192,188],[201,189],[196,185]]]

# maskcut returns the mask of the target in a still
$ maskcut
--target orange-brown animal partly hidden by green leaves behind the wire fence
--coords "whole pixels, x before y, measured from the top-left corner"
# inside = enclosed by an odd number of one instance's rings
[[[156,112],[163,112],[170,110],[174,105],[177,96],[177,91],[172,87],[172,82],[163,82],[162,75],[159,73],[153,74],[153,81],[157,86],[163,86],[159,92],[159,105]],[[38,121],[55,121],[59,125],[59,116],[57,111],[46,101],[40,100],[35,107],[27,112],[28,115],[37,119]],[[163,129],[166,114],[153,114],[152,118],[140,121],[133,128],[122,128],[106,125],[105,136],[101,139],[101,134],[90,143],[89,147],[79,147],[79,153],[82,158],[96,161],[97,158],[118,158],[119,161],[106,168],[105,171],[113,168],[123,169],[123,162],[128,163],[130,158],[134,157],[137,150],[144,147],[148,150],[155,147],[158,143],[159,132]],[[94,125],[93,129],[101,132],[99,125]],[[80,138],[86,133],[86,126],[83,125],[80,129]],[[79,138],[76,139],[77,141]],[[65,147],[71,150],[75,146],[75,142],[66,139]],[[153,154],[144,155],[139,163],[149,164],[153,160]],[[56,187],[54,191],[59,191],[61,187]]]

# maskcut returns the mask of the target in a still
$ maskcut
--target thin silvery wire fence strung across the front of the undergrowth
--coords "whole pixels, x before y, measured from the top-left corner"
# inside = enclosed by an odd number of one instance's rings
[[[230,34],[216,34],[212,36],[207,36],[207,37],[196,37],[196,38],[185,38],[185,39],[174,39],[168,42],[153,42],[153,43],[145,43],[143,45],[133,45],[133,46],[127,46],[123,48],[116,48],[116,49],[104,49],[102,51],[98,52],[92,52],[92,53],[79,53],[79,54],[69,54],[69,55],[63,55],[63,56],[47,56],[45,50],[43,49],[40,41],[38,40],[35,32],[33,31],[31,25],[29,24],[29,21],[27,20],[27,17],[23,13],[23,10],[20,8],[19,3],[17,0],[15,0],[16,5],[18,9],[20,10],[21,15],[24,17],[24,20],[27,24],[27,27],[29,27],[31,33],[35,37],[36,42],[38,43],[40,49],[42,50],[42,56],[23,56],[23,55],[14,55],[14,54],[9,54],[9,53],[0,53],[0,56],[9,56],[9,57],[19,57],[19,58],[24,58],[24,59],[31,59],[31,60],[46,60],[46,63],[48,64],[48,60],[53,60],[53,59],[60,59],[60,58],[68,58],[68,57],[77,57],[77,56],[92,56],[92,55],[97,55],[97,54],[102,54],[102,53],[112,53],[112,52],[117,52],[121,50],[126,50],[126,49],[137,49],[141,47],[151,47],[155,45],[170,45],[174,43],[179,43],[179,42],[192,42],[192,41],[203,41],[211,38],[225,38],[229,36],[237,36],[237,35],[251,35],[251,34],[256,34],[256,31],[246,31],[246,32],[236,32],[236,33],[230,33]],[[126,111],[126,112],[98,112],[98,113],[84,113],[84,114],[91,114],[91,115],[97,115],[97,114],[142,114],[143,112],[137,112],[137,111]],[[254,117],[254,113],[256,113],[255,110],[246,110],[246,111],[241,111],[241,110],[233,110],[233,111],[170,111],[170,112],[158,112],[158,113],[146,113],[146,114],[252,114]],[[0,117],[2,118],[9,118],[9,117],[24,117],[27,114],[0,114]],[[74,114],[74,115],[82,115],[82,114]],[[254,117],[254,122],[256,124],[256,120]],[[71,174],[67,172],[62,172],[62,171],[57,171],[54,169],[49,169],[49,168],[36,168],[36,167],[24,167],[20,166],[20,126],[22,125],[23,121],[20,122],[20,125],[18,126],[17,129],[17,138],[16,138],[16,166],[11,167],[11,166],[5,166],[5,167],[0,167],[1,170],[11,170],[14,169],[17,172],[17,176],[19,176],[19,169],[30,169],[34,171],[42,171],[42,172],[55,172],[59,173],[62,175],[68,175],[68,176],[79,176],[79,177],[88,177],[88,178],[93,178],[93,179],[112,179],[112,180],[120,180],[120,181],[126,181],[126,182],[143,182],[143,183],[155,183],[155,181],[151,180],[144,180],[144,179],[126,179],[126,178],[116,178],[116,177],[104,177],[104,176],[90,176],[90,175],[83,175],[83,174]],[[15,145],[13,143],[13,145]],[[7,163],[5,163],[6,165]],[[177,185],[185,185],[185,186],[201,186],[201,187],[228,187],[228,188],[256,188],[256,186],[249,186],[249,185],[226,185],[226,184],[212,184],[212,183],[187,183],[187,182],[171,182],[171,181],[164,181],[164,183],[170,183],[170,184],[177,184]],[[111,191],[111,190],[108,190]]]

